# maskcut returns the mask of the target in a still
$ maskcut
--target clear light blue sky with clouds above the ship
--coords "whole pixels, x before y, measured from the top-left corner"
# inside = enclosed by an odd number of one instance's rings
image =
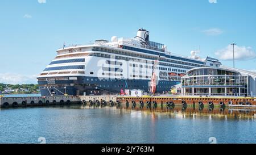
[[[68,44],[112,36],[134,37],[139,28],[171,52],[219,58],[256,70],[256,1],[251,0],[3,0],[0,5],[0,82],[35,83],[36,75]]]

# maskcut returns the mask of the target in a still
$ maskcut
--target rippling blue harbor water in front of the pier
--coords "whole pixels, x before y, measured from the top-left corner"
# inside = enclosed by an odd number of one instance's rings
[[[255,115],[247,114],[77,105],[2,109],[0,143],[40,143],[42,137],[46,143],[256,143]]]

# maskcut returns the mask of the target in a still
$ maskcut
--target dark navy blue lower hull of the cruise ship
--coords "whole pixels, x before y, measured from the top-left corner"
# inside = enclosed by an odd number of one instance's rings
[[[67,93],[68,95],[82,95],[84,92],[89,94],[95,93],[119,93],[121,89],[140,89],[145,92],[148,91],[149,80],[145,79],[98,79],[97,77],[77,77],[77,80],[67,80],[67,81],[55,81],[55,84],[48,84],[47,81],[38,81],[39,85],[48,85],[52,87],[40,87],[42,96],[49,96],[54,91],[56,95],[63,95]],[[56,84],[74,84],[74,86],[64,87],[53,87]],[[158,93],[163,93],[163,91],[170,91],[171,86],[177,85],[179,81],[159,81],[156,91]],[[97,89],[96,89],[97,87]]]

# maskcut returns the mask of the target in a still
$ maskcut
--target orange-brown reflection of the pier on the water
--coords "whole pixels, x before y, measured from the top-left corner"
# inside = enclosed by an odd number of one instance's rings
[[[209,106],[202,104],[201,106],[193,106],[183,104],[181,105],[172,105],[172,106],[162,106],[162,105],[145,105],[145,104],[116,104],[112,106],[79,106],[77,108],[116,108],[117,110],[126,110],[126,112],[145,112],[152,114],[152,117],[157,118],[158,114],[170,114],[170,115],[182,115],[183,118],[186,116],[219,116],[227,118],[256,118],[256,110],[247,110],[247,109],[229,109],[224,106]],[[123,112],[123,111],[122,111]]]

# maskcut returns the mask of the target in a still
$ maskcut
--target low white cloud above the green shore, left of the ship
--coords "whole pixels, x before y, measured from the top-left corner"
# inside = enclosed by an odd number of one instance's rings
[[[15,74],[15,73],[0,73],[0,83],[15,85],[15,84],[37,83],[37,81],[36,81],[36,75],[24,76],[24,75]]]

